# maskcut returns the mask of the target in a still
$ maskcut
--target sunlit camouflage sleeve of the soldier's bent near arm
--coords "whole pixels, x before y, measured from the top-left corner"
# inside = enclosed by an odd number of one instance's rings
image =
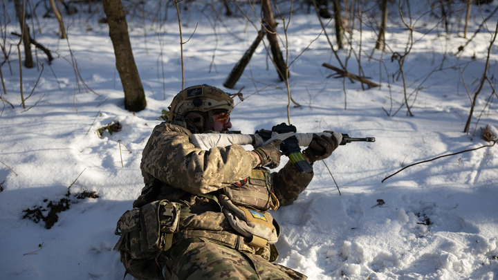
[[[154,128],[140,164],[145,183],[157,178],[190,194],[208,194],[250,176],[255,167],[250,151],[237,144],[202,151],[189,142],[190,135],[165,122]]]

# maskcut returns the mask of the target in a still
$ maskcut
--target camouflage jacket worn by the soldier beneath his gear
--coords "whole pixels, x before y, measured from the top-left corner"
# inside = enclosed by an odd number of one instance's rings
[[[219,189],[251,175],[255,168],[251,152],[239,144],[203,151],[190,142],[191,135],[187,129],[168,122],[154,128],[140,164],[145,187],[133,207],[160,199],[182,201],[190,206],[190,213],[183,214],[174,240],[205,237],[255,253],[257,248],[243,242],[212,199]],[[313,173],[299,174],[289,161],[278,172],[270,174],[271,191],[280,205],[288,205],[312,178]]]

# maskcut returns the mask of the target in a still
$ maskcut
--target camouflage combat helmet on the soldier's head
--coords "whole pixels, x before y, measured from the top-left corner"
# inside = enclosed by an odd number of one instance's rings
[[[214,123],[213,113],[216,111],[232,112],[235,95],[243,100],[242,93],[230,95],[230,93],[225,93],[208,84],[190,86],[173,98],[171,105],[169,105],[168,120],[180,124],[194,133],[203,132],[201,126],[205,122],[205,118]],[[192,118],[192,112],[197,113],[196,119]]]

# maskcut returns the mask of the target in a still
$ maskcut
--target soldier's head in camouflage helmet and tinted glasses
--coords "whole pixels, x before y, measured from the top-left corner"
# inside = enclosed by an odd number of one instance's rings
[[[241,93],[237,93],[239,98]],[[234,108],[233,96],[214,86],[190,86],[179,92],[169,106],[168,119],[182,124],[192,133],[228,131],[232,127],[230,113]]]

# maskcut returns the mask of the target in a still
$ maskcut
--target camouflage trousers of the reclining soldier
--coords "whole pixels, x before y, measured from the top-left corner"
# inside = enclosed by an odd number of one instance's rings
[[[303,274],[266,261],[255,254],[245,254],[212,242],[190,243],[165,266],[165,279],[251,279],[251,280],[305,280]]]

